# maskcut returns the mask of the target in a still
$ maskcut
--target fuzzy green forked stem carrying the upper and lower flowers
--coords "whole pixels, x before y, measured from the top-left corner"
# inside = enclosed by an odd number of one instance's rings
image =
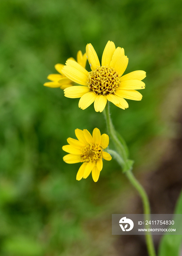
[[[121,142],[117,136],[117,133],[114,129],[114,125],[110,118],[108,103],[106,105],[106,111],[104,112],[104,115],[106,118],[106,124],[107,124],[107,129],[109,132],[109,136],[113,140],[113,143],[114,143],[118,153],[114,150],[107,150],[107,151],[108,151],[108,153],[113,155],[113,157],[117,160],[117,162],[123,168],[124,166],[127,166],[127,161],[128,161],[127,153],[125,151],[125,147],[121,144]],[[126,177],[128,178],[128,180],[130,181],[130,183],[133,185],[133,187],[136,188],[136,190],[139,192],[142,203],[143,203],[145,220],[149,220],[150,219],[150,205],[149,205],[147,193],[145,192],[144,188],[141,186],[139,181],[137,181],[137,179],[133,176],[131,168],[125,170],[125,174],[126,174]],[[146,239],[149,256],[156,256],[155,248],[154,248],[153,240],[152,240],[152,235],[150,233],[146,233],[145,239]]]

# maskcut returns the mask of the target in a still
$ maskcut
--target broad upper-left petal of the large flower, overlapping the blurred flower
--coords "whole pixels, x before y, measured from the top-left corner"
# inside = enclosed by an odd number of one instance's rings
[[[66,65],[62,68],[62,73],[75,83],[87,85],[88,71],[76,61],[67,60]]]

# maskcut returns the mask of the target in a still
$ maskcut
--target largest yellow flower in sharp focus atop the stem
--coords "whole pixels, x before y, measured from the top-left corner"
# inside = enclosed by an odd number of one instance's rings
[[[79,108],[86,109],[94,102],[96,112],[102,112],[107,101],[111,101],[119,108],[128,108],[125,99],[140,101],[142,95],[136,91],[144,89],[141,81],[145,78],[145,71],[138,70],[124,76],[128,65],[128,58],[124,49],[108,41],[102,54],[102,65],[91,44],[86,46],[87,59],[91,72],[72,60],[67,60],[62,73],[81,86],[72,86],[64,90],[68,98],[80,98]]]

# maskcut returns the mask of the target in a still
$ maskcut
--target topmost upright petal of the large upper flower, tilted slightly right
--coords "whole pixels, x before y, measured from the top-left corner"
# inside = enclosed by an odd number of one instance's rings
[[[108,41],[102,54],[102,66],[109,67],[114,51],[115,44],[112,41]]]

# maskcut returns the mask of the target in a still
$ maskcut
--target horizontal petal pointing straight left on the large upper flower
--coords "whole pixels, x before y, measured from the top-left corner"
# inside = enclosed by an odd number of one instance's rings
[[[80,98],[89,91],[90,89],[86,86],[71,86],[64,89],[64,94],[67,98]]]

